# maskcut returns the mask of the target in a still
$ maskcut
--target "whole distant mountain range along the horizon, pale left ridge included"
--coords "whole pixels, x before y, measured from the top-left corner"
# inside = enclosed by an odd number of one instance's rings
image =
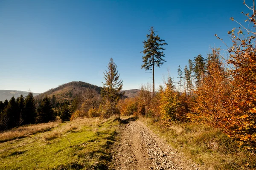
[[[86,88],[93,88],[100,93],[101,87],[92,85],[87,82],[69,82],[59,85],[57,88],[52,88],[42,94],[33,93],[35,99],[43,99],[45,96],[52,97],[55,96],[58,102],[63,102],[64,100],[72,100],[76,96],[83,93]],[[125,96],[135,97],[139,93],[139,89],[131,89],[125,91]],[[27,91],[14,91],[14,90],[0,90],[0,101],[5,99],[10,100],[12,96],[15,98],[19,97],[21,94],[25,97],[29,92]]]

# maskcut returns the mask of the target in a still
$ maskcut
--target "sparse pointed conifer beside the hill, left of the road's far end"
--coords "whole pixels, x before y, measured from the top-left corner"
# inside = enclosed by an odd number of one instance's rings
[[[124,94],[120,91],[122,90],[123,81],[119,78],[117,71],[117,65],[114,63],[111,58],[108,62],[108,71],[104,73],[105,83],[103,84],[102,96],[106,99],[106,102],[109,102],[109,110],[106,113],[106,116],[112,116],[116,113],[116,105],[120,97]]]

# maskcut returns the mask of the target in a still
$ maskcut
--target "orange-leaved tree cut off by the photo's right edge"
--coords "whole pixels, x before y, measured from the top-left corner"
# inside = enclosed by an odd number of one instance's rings
[[[250,9],[253,14],[245,14],[246,22],[253,24],[252,27],[255,29],[254,0],[253,7]],[[230,19],[234,20],[233,17]],[[243,33],[244,29],[247,37]],[[233,42],[233,46],[228,50],[230,53],[228,63],[233,66],[230,74],[233,78],[231,83],[234,86],[231,108],[233,115],[230,117],[233,123],[230,125],[232,130],[230,136],[240,140],[240,145],[244,145],[247,149],[256,149],[256,31],[243,27],[237,32],[234,28],[228,34]]]

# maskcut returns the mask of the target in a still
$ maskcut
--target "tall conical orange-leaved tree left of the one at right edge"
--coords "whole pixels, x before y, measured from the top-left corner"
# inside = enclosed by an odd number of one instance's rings
[[[213,50],[213,53],[208,55],[204,84],[195,91],[194,120],[200,120],[224,130],[228,123],[226,120],[230,116],[231,91],[232,86],[219,59],[218,51]]]

